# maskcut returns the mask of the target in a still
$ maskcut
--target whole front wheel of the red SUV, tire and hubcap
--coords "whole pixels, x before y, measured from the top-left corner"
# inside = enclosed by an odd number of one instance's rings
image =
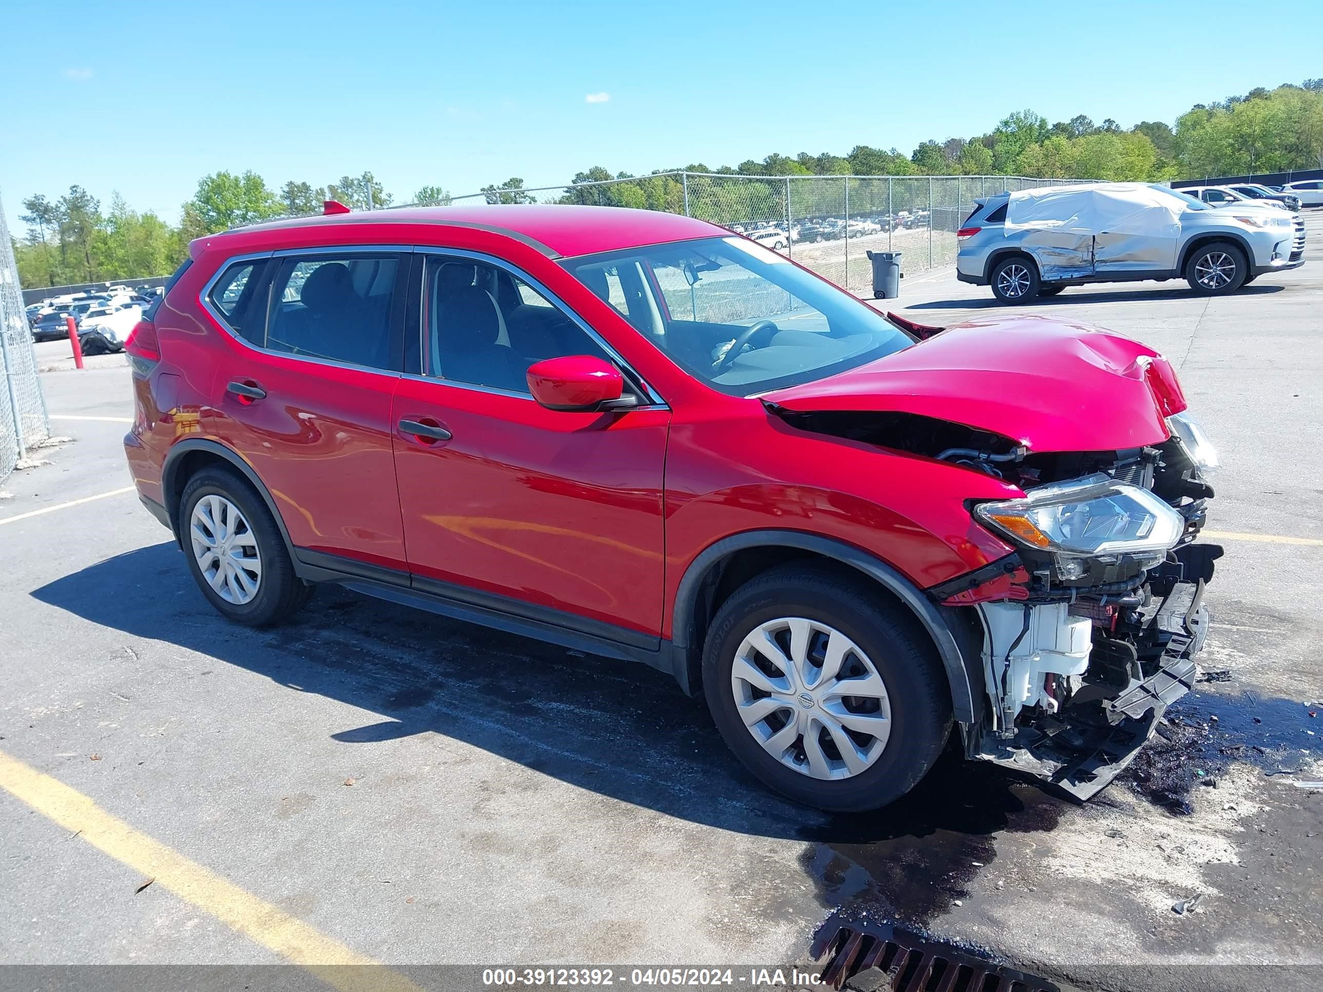
[[[708,709],[759,780],[835,812],[913,788],[951,727],[933,647],[876,591],[783,566],[717,612],[703,660]]]

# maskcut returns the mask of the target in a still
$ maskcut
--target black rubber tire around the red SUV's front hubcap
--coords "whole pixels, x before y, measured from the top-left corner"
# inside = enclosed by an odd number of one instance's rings
[[[878,600],[878,593],[860,582],[815,566],[786,565],[741,586],[708,630],[704,693],[721,737],[761,782],[804,806],[832,812],[886,806],[923,778],[950,734],[950,689],[933,644],[914,622]],[[890,734],[876,761],[851,778],[826,780],[794,770],[769,754],[740,717],[732,685],[736,653],[750,631],[779,618],[804,618],[840,631],[882,679]]]

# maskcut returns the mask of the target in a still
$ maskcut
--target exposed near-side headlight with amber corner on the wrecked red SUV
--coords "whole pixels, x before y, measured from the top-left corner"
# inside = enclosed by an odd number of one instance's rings
[[[1065,558],[1164,554],[1185,518],[1148,489],[1090,475],[1040,485],[1023,500],[980,503],[974,516],[1017,544]]]

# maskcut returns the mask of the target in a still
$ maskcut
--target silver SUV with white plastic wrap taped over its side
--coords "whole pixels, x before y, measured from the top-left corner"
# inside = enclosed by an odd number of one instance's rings
[[[1304,222],[1279,206],[1217,209],[1167,186],[1093,183],[975,201],[957,231],[957,278],[1003,303],[1068,286],[1184,278],[1195,292],[1236,292],[1304,265]]]

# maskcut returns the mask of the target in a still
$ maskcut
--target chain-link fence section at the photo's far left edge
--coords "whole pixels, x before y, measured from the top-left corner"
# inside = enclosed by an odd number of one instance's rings
[[[32,351],[32,331],[19,291],[19,266],[13,259],[9,225],[0,204],[0,365],[4,388],[0,394],[0,481],[28,455],[28,447],[45,440],[46,401],[37,378],[37,358]]]

